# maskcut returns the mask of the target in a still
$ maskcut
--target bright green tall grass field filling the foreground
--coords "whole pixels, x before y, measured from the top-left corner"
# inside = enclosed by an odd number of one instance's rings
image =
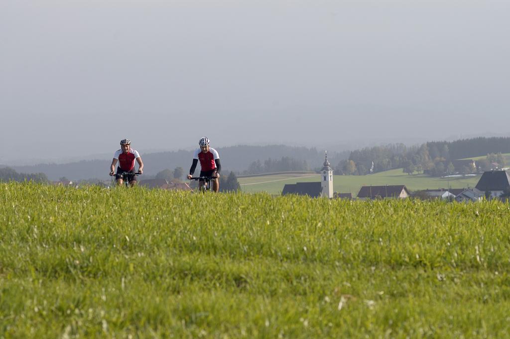
[[[510,336],[510,207],[0,184],[0,337]]]

